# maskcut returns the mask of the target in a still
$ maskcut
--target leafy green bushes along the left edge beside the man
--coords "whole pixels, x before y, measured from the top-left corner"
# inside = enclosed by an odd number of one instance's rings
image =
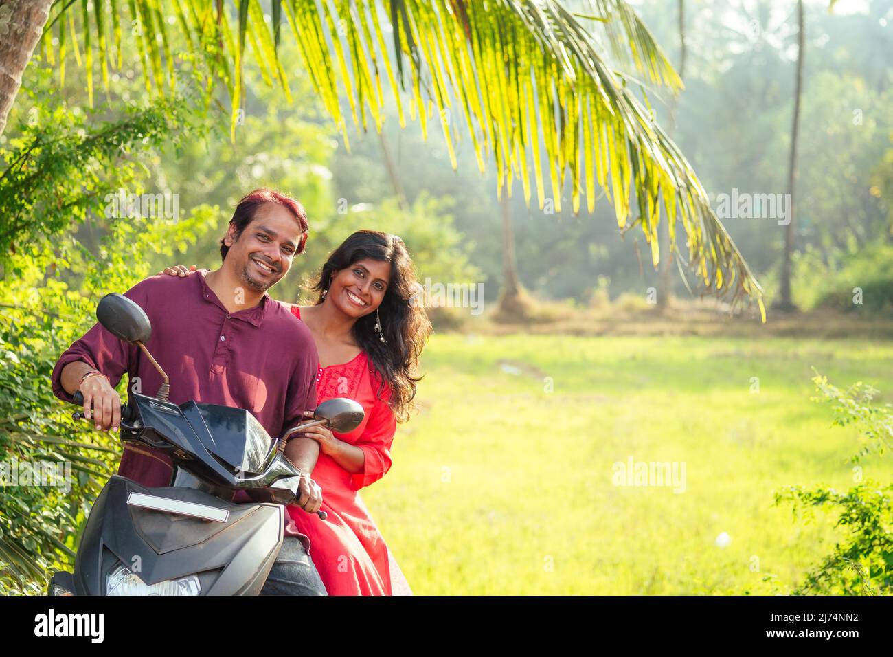
[[[71,567],[79,527],[113,471],[111,434],[71,420],[50,388],[63,352],[93,324],[96,299],[148,273],[146,255],[204,234],[216,209],[184,217],[110,211],[119,190],[143,191],[146,159],[185,139],[182,101],[130,107],[119,121],[96,121],[44,101],[33,122],[0,150],[3,279],[0,281],[0,594],[38,593],[46,571]],[[120,208],[119,208],[120,209]],[[72,274],[74,269],[78,274]],[[123,390],[123,383],[121,385]],[[61,464],[59,485],[22,475]]]

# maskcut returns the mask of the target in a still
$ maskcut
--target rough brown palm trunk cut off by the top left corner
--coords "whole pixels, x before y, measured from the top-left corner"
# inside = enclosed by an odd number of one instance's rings
[[[0,135],[50,15],[53,0],[0,2]]]

